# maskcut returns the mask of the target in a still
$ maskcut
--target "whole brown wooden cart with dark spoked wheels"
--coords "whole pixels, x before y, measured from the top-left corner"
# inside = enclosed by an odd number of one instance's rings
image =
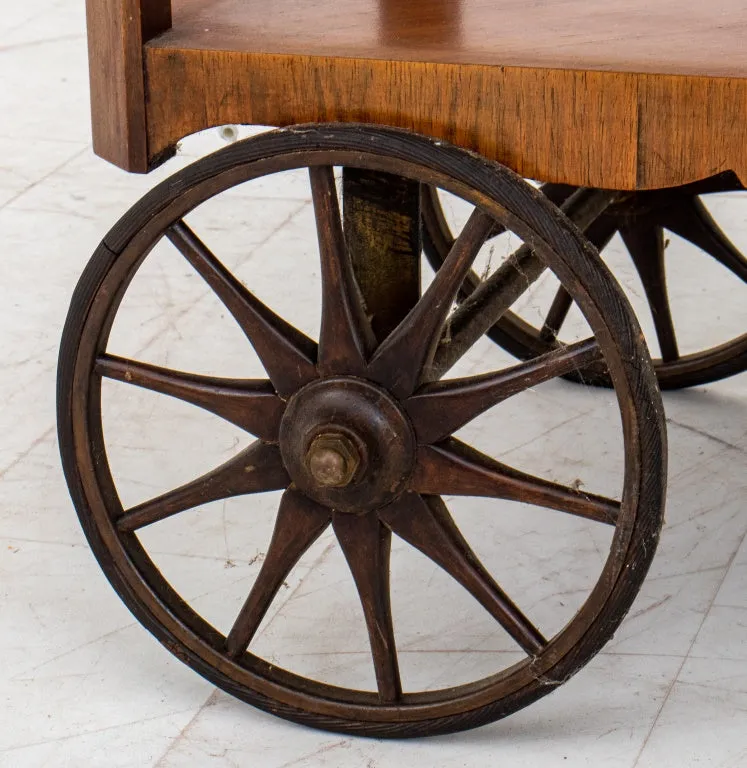
[[[661,386],[680,387],[747,367],[747,335],[680,356],[663,258],[666,228],[730,269],[736,290],[747,281],[747,260],[699,200],[747,179],[743,4],[88,0],[88,24],[94,148],[121,168],[146,173],[180,139],[212,126],[286,126],[147,194],[104,238],[75,292],[60,357],[60,444],[83,527],[116,591],[215,684],[321,728],[443,733],[553,690],[612,636],[654,554],[666,485],[657,374]],[[299,168],[308,169],[321,254],[315,340],[259,301],[185,221],[225,190]],[[523,177],[544,182],[543,191]],[[452,233],[438,190],[471,204],[461,231]],[[505,231],[523,245],[478,277],[478,251]],[[660,360],[649,357],[599,258],[617,231],[645,287]],[[235,318],[265,380],[107,353],[130,280],[164,238]],[[424,251],[437,271],[421,293]],[[560,289],[534,327],[509,308],[546,270]],[[591,336],[564,344],[560,327],[574,303]],[[523,362],[444,378],[486,333]],[[614,388],[621,499],[521,472],[454,437],[558,376]],[[208,475],[125,509],[101,426],[104,378],[180,398],[256,439]],[[175,592],[137,532],[209,501],[279,489],[266,559],[224,634]],[[470,549],[443,501],[460,495],[614,526],[596,585],[554,636]],[[250,652],[283,580],[330,525],[361,597],[376,691],[309,680]],[[524,658],[469,684],[403,691],[392,533],[471,593]]]

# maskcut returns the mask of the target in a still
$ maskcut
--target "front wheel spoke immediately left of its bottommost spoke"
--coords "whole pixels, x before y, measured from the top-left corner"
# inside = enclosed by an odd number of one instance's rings
[[[280,502],[275,530],[262,568],[226,638],[226,651],[236,658],[259,629],[288,574],[329,525],[331,511],[289,488]]]

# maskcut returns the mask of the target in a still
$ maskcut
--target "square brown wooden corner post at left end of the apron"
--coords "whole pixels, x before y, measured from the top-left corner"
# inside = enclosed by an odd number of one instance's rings
[[[143,44],[171,26],[170,0],[86,0],[93,149],[148,170]]]

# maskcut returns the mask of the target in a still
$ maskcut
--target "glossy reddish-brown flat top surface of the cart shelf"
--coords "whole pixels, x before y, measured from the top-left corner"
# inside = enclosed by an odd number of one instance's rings
[[[747,77],[742,0],[173,0],[169,47]]]

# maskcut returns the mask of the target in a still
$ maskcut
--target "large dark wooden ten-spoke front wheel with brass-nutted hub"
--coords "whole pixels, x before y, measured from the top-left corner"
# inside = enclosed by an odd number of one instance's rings
[[[333,167],[397,174],[475,206],[433,283],[378,340],[345,246]],[[299,168],[308,168],[321,253],[318,342],[260,302],[184,220],[236,184]],[[583,194],[577,200],[581,207],[590,204]],[[429,372],[439,369],[439,341],[457,290],[497,222],[525,243],[517,263],[538,272],[548,267],[560,278],[593,337],[483,376],[429,380]],[[130,281],[163,238],[239,324],[266,368],[266,380],[200,377],[107,352]],[[516,290],[523,288],[509,276],[503,301],[510,303]],[[58,415],[64,469],[83,528],[116,591],[169,650],[221,688],[325,729],[379,736],[461,730],[503,717],[567,680],[612,636],[639,589],[658,540],[665,487],[661,399],[640,338],[627,302],[605,267],[589,258],[587,243],[513,172],[401,131],[273,131],[181,171],[146,195],[104,239],[76,289],[62,342]],[[494,404],[596,360],[610,371],[622,417],[621,500],[521,472],[453,437]],[[180,398],[255,439],[209,474],[125,509],[104,441],[100,397],[107,377]],[[223,634],[176,593],[138,531],[209,501],[277,489],[285,492],[265,561],[232,629]],[[521,500],[614,527],[597,583],[554,636],[544,637],[477,559],[443,500],[454,495]],[[306,679],[251,652],[284,578],[330,525],[361,597],[377,691]],[[471,684],[403,691],[389,599],[392,535],[471,593],[495,619],[496,631],[513,638],[523,660]]]

